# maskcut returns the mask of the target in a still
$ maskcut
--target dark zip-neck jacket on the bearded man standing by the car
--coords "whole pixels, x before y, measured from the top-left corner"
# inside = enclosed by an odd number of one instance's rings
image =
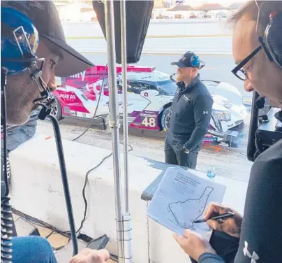
[[[187,87],[184,83],[177,85],[166,139],[172,146],[185,145],[193,150],[207,134],[214,101],[199,75]]]

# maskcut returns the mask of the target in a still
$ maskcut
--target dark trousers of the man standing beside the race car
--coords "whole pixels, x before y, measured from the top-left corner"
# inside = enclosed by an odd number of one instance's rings
[[[182,150],[177,150],[175,147],[165,140],[165,163],[176,164],[195,169],[197,166],[197,158],[200,148],[193,150],[193,152],[185,153]]]

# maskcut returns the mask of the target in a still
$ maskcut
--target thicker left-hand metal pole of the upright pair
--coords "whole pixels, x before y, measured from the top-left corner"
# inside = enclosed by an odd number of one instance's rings
[[[116,205],[117,246],[119,262],[124,262],[123,218],[121,210],[121,176],[119,169],[119,111],[117,101],[117,69],[114,39],[114,1],[105,3],[105,27],[107,36],[107,64],[109,69],[109,126],[112,131],[114,161],[114,197]]]

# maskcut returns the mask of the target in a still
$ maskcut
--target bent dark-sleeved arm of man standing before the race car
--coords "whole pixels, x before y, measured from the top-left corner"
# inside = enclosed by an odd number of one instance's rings
[[[187,150],[192,150],[207,134],[211,120],[213,99],[209,94],[199,94],[191,101],[195,118],[195,129],[184,144]]]

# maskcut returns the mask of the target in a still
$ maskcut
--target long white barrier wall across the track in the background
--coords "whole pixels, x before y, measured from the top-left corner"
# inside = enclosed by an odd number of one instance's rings
[[[98,22],[64,24],[66,41],[80,52],[105,53],[106,42]],[[232,55],[232,31],[225,20],[150,23],[143,54]]]

